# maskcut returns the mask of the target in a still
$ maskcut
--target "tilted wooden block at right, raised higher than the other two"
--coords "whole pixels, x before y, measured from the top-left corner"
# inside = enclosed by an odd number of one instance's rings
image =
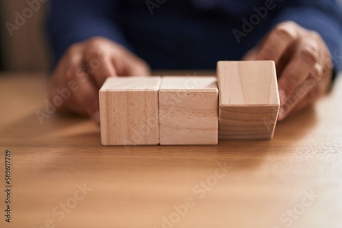
[[[219,139],[272,139],[280,107],[274,61],[219,61]]]

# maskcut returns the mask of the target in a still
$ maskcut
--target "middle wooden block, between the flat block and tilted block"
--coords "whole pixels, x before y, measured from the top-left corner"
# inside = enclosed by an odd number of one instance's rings
[[[218,144],[215,76],[165,76],[159,89],[161,145]]]

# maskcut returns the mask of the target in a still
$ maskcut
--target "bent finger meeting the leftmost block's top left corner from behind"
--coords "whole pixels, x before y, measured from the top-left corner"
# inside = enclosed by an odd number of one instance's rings
[[[85,55],[84,61],[88,68],[88,73],[93,76],[94,81],[99,88],[105,83],[105,80],[109,76],[116,76],[116,69],[111,61],[110,57],[104,55],[100,50],[94,50],[94,48]]]

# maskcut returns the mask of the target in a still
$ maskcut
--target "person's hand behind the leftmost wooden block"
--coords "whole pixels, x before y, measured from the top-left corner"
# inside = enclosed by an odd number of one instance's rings
[[[75,91],[57,106],[58,111],[86,114],[100,124],[98,90],[109,76],[147,76],[148,65],[124,47],[105,38],[92,38],[70,46],[51,77],[50,98],[75,82]]]

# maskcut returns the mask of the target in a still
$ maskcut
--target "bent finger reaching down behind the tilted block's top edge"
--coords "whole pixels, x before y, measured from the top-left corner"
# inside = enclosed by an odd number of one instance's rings
[[[261,44],[256,59],[274,60],[278,64],[289,46],[298,40],[298,33],[298,26],[295,23],[287,22],[277,25]]]

